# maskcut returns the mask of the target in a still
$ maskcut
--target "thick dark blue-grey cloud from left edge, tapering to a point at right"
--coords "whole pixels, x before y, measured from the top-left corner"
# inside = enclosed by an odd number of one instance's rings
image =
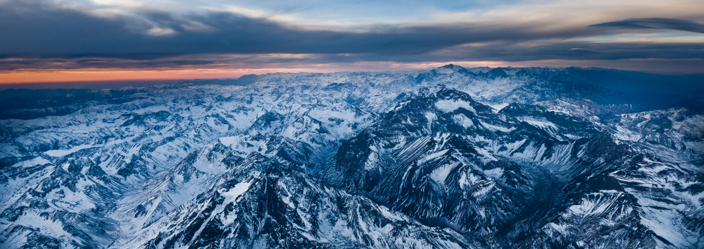
[[[189,53],[415,54],[480,41],[576,37],[593,31],[540,26],[448,23],[378,26],[367,32],[308,30],[229,12],[174,15],[145,11],[101,18],[70,8],[13,1],[0,8],[0,56],[173,56]],[[22,7],[22,8],[20,8]],[[23,11],[15,11],[23,9]],[[148,21],[146,21],[148,20]]]

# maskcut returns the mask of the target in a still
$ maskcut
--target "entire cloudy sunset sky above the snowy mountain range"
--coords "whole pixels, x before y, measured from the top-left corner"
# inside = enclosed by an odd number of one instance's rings
[[[449,63],[704,73],[704,1],[0,0],[0,83]]]

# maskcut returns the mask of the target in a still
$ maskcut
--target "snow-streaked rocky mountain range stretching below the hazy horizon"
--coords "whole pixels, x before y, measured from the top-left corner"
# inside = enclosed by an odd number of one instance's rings
[[[0,248],[704,248],[704,115],[584,80],[601,72],[275,73],[4,108]]]

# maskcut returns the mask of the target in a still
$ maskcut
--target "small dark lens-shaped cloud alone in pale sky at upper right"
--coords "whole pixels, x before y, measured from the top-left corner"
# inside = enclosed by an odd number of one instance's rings
[[[681,30],[704,34],[704,24],[689,20],[672,18],[631,18],[608,23],[599,23],[589,27],[620,27],[626,29],[663,29]]]

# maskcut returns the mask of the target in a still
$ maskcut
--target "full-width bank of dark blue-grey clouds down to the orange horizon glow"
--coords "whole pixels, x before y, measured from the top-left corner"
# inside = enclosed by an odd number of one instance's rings
[[[9,1],[0,7],[0,23],[4,24],[0,25],[0,70],[208,65],[244,61],[223,59],[215,54],[262,53],[318,54],[315,63],[660,58],[691,59],[696,67],[704,58],[704,44],[555,41],[618,34],[623,29],[704,31],[700,23],[667,18],[627,19],[562,30],[548,30],[530,23],[448,23],[379,26],[368,32],[344,32],[303,30],[224,12],[182,16],[144,11],[134,16],[98,18],[39,2]],[[194,23],[201,28],[194,28]],[[173,32],[147,34],[153,27]],[[522,45],[526,41],[543,44]],[[483,45],[459,46],[468,43]],[[252,60],[281,63],[299,59]]]

